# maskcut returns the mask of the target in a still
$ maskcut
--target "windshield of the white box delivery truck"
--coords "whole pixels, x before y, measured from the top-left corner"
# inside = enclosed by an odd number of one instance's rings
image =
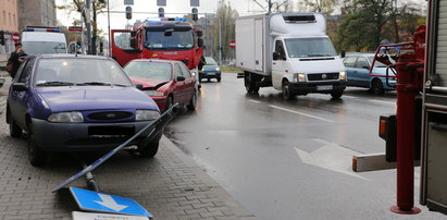
[[[289,38],[285,39],[288,57],[314,58],[337,56],[331,40],[319,38]]]

